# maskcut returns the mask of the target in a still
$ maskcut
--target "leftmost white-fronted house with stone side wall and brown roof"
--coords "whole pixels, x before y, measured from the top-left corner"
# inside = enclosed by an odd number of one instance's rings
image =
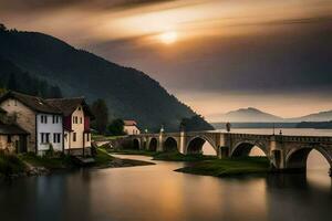
[[[0,98],[0,107],[14,124],[30,134],[27,151],[43,155],[53,148],[63,151],[62,112],[45,99],[15,92]]]

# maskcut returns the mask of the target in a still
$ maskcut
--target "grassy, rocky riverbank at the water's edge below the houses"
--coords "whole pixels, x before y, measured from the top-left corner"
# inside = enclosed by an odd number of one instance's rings
[[[96,156],[93,159],[94,162],[84,167],[103,169],[154,165],[148,161],[113,157],[102,148],[96,149]],[[65,155],[40,157],[34,154],[8,155],[0,152],[0,178],[50,175],[81,167],[73,157]]]

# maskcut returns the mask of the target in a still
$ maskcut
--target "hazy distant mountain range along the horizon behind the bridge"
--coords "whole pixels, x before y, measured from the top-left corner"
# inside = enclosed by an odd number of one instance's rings
[[[297,122],[330,122],[332,110],[314,113],[301,117],[282,118],[269,113],[264,113],[253,107],[240,108],[226,114],[215,116],[218,122],[232,123],[297,123]]]

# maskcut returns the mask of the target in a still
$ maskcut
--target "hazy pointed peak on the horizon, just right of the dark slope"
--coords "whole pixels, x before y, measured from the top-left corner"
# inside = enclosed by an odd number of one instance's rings
[[[219,122],[246,122],[246,123],[258,123],[258,122],[282,122],[281,117],[261,112],[253,107],[240,108],[237,110],[228,112],[218,116]]]

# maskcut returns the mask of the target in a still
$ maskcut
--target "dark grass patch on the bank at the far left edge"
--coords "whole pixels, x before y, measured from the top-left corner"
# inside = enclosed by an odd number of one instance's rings
[[[24,171],[25,165],[19,157],[0,152],[0,176],[9,177]]]

